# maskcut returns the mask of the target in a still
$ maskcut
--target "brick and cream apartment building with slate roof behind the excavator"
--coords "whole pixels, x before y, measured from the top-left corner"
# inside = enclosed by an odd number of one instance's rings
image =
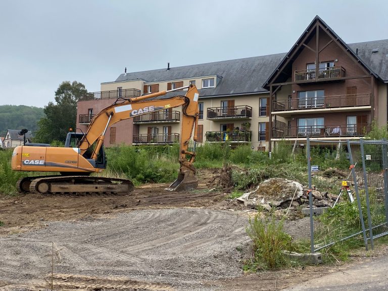
[[[77,128],[85,131],[117,98],[195,84],[199,142],[271,151],[280,139],[359,138],[373,119],[386,124],[387,82],[388,39],[346,44],[317,16],[287,54],[120,74],[80,99]],[[180,108],[172,108],[121,121],[105,145],[175,142],[180,119]]]

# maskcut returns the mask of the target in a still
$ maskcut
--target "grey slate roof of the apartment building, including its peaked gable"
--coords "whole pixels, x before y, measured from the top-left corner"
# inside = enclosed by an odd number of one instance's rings
[[[115,82],[130,80],[166,82],[217,75],[220,77],[217,86],[215,88],[200,89],[201,98],[268,92],[269,80],[284,65],[287,56],[297,49],[297,44],[309,33],[316,22],[325,27],[368,72],[381,81],[388,82],[388,39],[346,44],[318,16],[314,18],[288,53],[171,67],[169,70],[164,68],[126,73],[121,74]],[[358,54],[356,54],[357,49]],[[372,50],[375,49],[378,49],[378,52],[372,53]],[[164,98],[177,94],[181,93],[171,92],[165,95]]]

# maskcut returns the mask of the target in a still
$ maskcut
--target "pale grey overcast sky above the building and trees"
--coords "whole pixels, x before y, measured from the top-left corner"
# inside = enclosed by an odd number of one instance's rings
[[[345,42],[388,38],[388,1],[0,0],[0,105],[44,107],[62,81],[285,53],[318,15]]]

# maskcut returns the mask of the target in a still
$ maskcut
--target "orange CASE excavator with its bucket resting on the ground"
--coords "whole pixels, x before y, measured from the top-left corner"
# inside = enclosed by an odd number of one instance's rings
[[[186,94],[155,99],[167,92],[187,89]],[[195,152],[188,151],[193,133],[197,140],[199,93],[194,85],[160,91],[134,98],[118,98],[90,122],[85,133],[69,132],[65,147],[27,143],[16,147],[12,154],[12,169],[28,172],[60,172],[60,175],[25,177],[18,181],[21,193],[84,193],[127,194],[134,186],[130,180],[97,177],[107,166],[104,138],[107,128],[116,122],[169,108],[182,106],[178,178],[167,188],[170,191],[190,190],[198,186],[196,169],[192,163]],[[152,100],[151,100],[152,99]]]

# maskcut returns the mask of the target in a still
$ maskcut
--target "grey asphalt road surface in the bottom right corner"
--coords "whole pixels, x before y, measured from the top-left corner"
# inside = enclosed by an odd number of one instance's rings
[[[388,290],[388,256],[283,289],[283,291],[302,290]]]

